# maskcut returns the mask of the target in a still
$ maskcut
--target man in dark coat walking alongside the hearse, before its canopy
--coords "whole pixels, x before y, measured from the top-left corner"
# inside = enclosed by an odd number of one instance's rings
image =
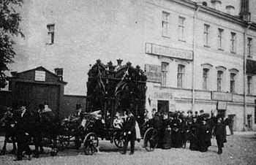
[[[136,124],[136,119],[132,115],[132,112],[129,110],[126,111],[127,113],[127,120],[125,120],[123,128],[124,128],[124,149],[121,154],[126,154],[127,153],[127,146],[128,143],[130,142],[131,144],[131,152],[129,153],[132,155],[135,152],[135,140],[136,140],[136,131],[135,131],[135,124]]]

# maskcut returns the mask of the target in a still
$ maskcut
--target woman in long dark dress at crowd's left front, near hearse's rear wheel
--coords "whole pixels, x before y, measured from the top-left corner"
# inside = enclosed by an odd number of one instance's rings
[[[162,149],[170,149],[172,147],[172,137],[171,137],[171,128],[170,128],[170,119],[168,118],[167,113],[164,113],[162,120]]]

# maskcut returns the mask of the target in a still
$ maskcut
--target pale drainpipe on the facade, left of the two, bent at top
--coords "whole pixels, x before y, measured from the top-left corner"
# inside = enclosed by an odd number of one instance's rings
[[[195,32],[196,32],[196,22],[197,22],[197,13],[200,9],[202,4],[197,3],[197,9],[195,10],[194,15],[194,27],[193,27],[193,72],[192,72],[192,112],[195,112],[195,59],[196,59],[196,53],[195,53],[195,46],[196,46],[196,39],[195,39]]]

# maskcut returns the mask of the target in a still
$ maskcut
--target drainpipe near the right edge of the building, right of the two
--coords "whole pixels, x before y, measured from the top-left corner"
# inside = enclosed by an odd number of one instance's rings
[[[251,22],[248,22],[247,27],[244,30],[244,128],[243,131],[246,131],[246,92],[247,92],[247,79],[246,79],[246,37],[248,29],[251,26]]]

